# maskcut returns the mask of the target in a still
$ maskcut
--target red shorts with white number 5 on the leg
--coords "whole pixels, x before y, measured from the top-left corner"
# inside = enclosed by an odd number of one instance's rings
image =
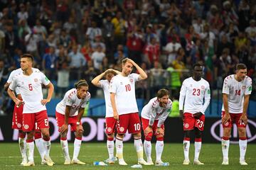
[[[33,130],[39,130],[43,128],[49,128],[49,121],[46,110],[37,113],[23,113],[22,130],[24,132],[31,132]]]

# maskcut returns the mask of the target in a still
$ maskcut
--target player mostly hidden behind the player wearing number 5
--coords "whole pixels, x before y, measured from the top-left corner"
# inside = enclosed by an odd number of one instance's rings
[[[32,68],[32,69],[34,71],[39,72],[38,69],[35,69],[35,68]],[[15,75],[22,74],[22,73],[23,73],[23,71],[21,68],[15,69],[14,71],[12,71],[6,84],[4,84],[4,89],[7,91],[7,89],[9,88],[9,86],[11,84],[11,81],[14,80]],[[16,87],[15,93],[16,93],[16,97],[18,98],[18,100],[22,101],[21,92],[19,91],[18,87]],[[23,105],[21,105],[19,107],[17,107],[16,105],[14,106],[14,113],[13,113],[13,120],[12,120],[11,128],[18,130],[18,146],[20,148],[21,157],[22,157],[21,165],[24,165],[24,164],[27,164],[28,157],[26,155],[26,141],[25,141],[26,132],[22,131],[22,112],[23,112]],[[34,134],[36,147],[38,148],[38,152],[42,159],[41,164],[45,164],[46,162],[43,159],[45,149],[43,148],[43,141],[42,141],[41,137],[42,137],[41,132],[36,131]]]

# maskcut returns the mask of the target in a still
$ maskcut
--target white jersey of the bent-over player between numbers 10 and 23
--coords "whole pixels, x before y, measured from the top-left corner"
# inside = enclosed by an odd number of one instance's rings
[[[142,108],[142,118],[149,119],[149,125],[153,125],[154,120],[159,120],[157,127],[161,127],[171,112],[172,102],[170,99],[165,108],[159,106],[159,104],[159,100],[155,97]]]

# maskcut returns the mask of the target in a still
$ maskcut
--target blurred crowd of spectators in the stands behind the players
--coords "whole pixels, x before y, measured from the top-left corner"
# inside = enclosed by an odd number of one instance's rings
[[[255,83],[255,20],[253,0],[1,0],[0,110],[9,103],[3,86],[24,52],[53,81],[57,97],[78,79],[98,96],[90,81],[119,69],[124,57],[149,74],[137,86],[141,98],[160,87],[178,89],[195,62],[205,66],[211,89],[221,89],[239,62]]]

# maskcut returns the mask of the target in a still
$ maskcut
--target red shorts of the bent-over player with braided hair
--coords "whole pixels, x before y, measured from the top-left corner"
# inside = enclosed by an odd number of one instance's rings
[[[60,128],[65,124],[65,115],[60,114],[57,111],[55,111],[55,115],[56,115],[56,120],[58,124],[58,131],[60,132]],[[77,127],[77,124],[76,124],[77,122],[78,122],[78,115],[68,117],[68,125],[71,126],[72,132],[75,132]],[[82,125],[81,122],[80,122],[80,125]]]

